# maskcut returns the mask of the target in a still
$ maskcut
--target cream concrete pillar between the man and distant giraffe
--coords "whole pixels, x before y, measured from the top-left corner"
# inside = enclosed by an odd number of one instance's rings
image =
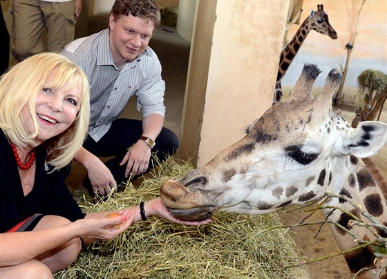
[[[271,106],[289,1],[197,5],[181,148],[201,166]]]

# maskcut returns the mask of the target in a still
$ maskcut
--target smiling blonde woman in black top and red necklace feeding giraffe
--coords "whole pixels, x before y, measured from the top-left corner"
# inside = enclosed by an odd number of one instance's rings
[[[110,240],[148,215],[180,222],[160,199],[115,218],[79,209],[59,170],[84,142],[88,99],[86,76],[62,55],[32,56],[1,77],[0,278],[53,278],[82,242]]]

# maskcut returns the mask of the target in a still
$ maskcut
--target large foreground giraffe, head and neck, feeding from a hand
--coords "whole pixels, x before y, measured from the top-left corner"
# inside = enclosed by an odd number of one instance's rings
[[[314,98],[312,86],[319,73],[317,66],[305,65],[287,102],[269,108],[243,139],[200,169],[164,182],[160,196],[171,213],[182,220],[202,220],[214,211],[263,214],[289,204],[321,201],[325,193],[332,193],[340,198],[325,200],[323,212],[332,222],[341,251],[346,251],[343,256],[350,271],[375,267],[373,247],[355,247],[376,235],[387,237],[383,228],[387,205],[380,185],[360,158],[387,144],[387,124],[361,122],[352,128],[332,108],[341,74],[331,70],[323,92]],[[370,223],[361,210],[380,227],[371,232],[352,225],[355,218]]]

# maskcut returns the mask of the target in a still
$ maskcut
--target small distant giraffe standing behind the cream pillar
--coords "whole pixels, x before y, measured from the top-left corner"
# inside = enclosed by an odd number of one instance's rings
[[[315,30],[320,34],[328,35],[332,39],[337,39],[337,32],[330,26],[328,15],[324,12],[323,5],[317,5],[317,12],[314,12],[314,10],[310,12],[310,16],[303,21],[292,41],[290,41],[281,52],[276,88],[274,89],[274,104],[281,101],[281,79],[285,75],[287,68],[289,68],[310,30]]]

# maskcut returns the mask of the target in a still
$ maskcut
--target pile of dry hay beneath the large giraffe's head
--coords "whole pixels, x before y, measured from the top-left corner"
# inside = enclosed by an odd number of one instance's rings
[[[167,160],[138,187],[106,201],[78,198],[84,212],[110,211],[159,195],[162,182],[182,177],[189,163]],[[276,213],[245,216],[216,213],[213,222],[191,227],[153,216],[109,242],[84,247],[76,262],[55,278],[300,278],[299,253]]]

